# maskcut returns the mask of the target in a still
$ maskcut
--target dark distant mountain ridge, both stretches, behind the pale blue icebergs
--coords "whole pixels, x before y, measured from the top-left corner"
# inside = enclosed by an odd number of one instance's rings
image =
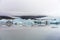
[[[14,17],[19,17],[22,19],[35,19],[35,18],[42,18],[46,16],[14,16]],[[14,18],[10,16],[0,16],[0,19],[14,19]]]

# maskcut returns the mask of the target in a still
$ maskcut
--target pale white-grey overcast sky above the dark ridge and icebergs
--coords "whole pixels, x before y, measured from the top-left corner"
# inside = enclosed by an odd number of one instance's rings
[[[0,15],[60,16],[60,0],[0,0]]]

